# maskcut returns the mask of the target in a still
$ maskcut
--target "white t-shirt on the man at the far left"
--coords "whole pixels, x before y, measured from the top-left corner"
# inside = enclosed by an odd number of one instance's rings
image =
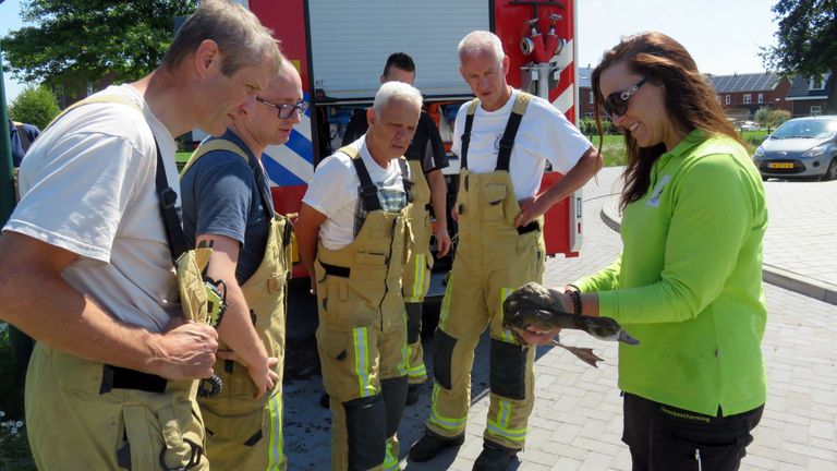
[[[177,145],[132,86],[99,94],[128,97],[143,111],[90,104],[58,120],[21,165],[23,198],[3,230],[77,254],[62,273],[73,288],[117,318],[159,331],[181,310],[155,186],[154,138],[179,193]]]

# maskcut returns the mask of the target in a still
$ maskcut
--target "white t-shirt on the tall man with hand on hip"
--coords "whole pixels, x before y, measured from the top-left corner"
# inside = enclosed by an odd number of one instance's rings
[[[497,168],[500,138],[506,131],[511,108],[520,90],[512,89],[511,98],[496,111],[486,111],[482,105],[474,113],[471,143],[468,146],[468,169],[474,173],[489,173]],[[462,133],[469,102],[459,108],[453,125],[451,150],[461,156]],[[534,196],[541,186],[546,160],[553,170],[567,173],[593,144],[549,101],[532,97],[520,122],[511,149],[509,173],[518,201]]]

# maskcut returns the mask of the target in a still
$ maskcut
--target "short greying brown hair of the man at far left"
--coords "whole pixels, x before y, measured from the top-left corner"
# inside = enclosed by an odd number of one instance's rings
[[[232,76],[248,65],[274,63],[278,73],[284,57],[272,32],[250,10],[230,0],[204,0],[183,25],[162,59],[162,68],[174,71],[204,40],[214,40],[221,51],[221,72]]]

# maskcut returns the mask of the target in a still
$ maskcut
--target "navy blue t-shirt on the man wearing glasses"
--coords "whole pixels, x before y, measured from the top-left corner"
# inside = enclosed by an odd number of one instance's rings
[[[243,285],[258,268],[267,246],[269,219],[263,200],[267,198],[271,215],[274,207],[267,178],[250,148],[230,130],[222,138],[244,149],[248,160],[230,152],[214,150],[189,169],[180,182],[183,231],[190,245],[195,244],[197,234],[239,241],[235,279]]]

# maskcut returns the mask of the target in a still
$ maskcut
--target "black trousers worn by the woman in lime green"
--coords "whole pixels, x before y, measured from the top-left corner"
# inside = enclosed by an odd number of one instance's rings
[[[718,409],[708,416],[628,392],[622,408],[622,442],[631,449],[633,471],[738,470],[764,411],[760,406],[723,416]]]

